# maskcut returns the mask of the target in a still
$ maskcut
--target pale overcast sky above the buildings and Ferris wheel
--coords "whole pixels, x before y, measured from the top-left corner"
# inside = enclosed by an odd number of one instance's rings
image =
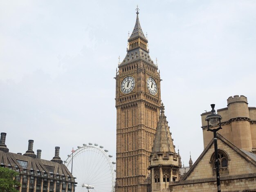
[[[176,150],[203,150],[201,116],[245,95],[256,107],[254,0],[0,1],[0,131],[10,152],[28,140],[42,159],[98,143],[115,157],[115,74],[136,6],[158,60]],[[176,151],[177,152],[177,151]]]

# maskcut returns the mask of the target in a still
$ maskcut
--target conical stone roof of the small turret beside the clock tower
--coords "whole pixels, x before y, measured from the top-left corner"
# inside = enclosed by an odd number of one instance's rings
[[[171,138],[171,133],[168,127],[168,122],[166,121],[166,116],[164,115],[164,105],[162,103],[161,114],[159,121],[157,123],[157,132],[155,134],[155,142],[153,146],[153,153],[157,152],[173,152],[175,153],[173,139]]]

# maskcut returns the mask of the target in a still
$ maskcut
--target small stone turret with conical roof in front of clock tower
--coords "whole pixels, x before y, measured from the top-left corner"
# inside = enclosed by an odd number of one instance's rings
[[[157,123],[157,132],[153,152],[150,154],[151,188],[152,191],[165,191],[169,183],[179,181],[178,168],[181,159],[175,152],[171,132],[164,115],[164,105],[161,106],[161,114]]]

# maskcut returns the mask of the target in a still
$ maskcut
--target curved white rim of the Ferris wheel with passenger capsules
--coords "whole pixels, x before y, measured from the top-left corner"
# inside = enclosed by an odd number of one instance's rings
[[[90,143],[89,143],[90,144]],[[68,155],[66,161],[64,161],[64,165],[66,167],[70,166],[70,163],[72,162],[72,155],[73,155],[73,159],[79,155],[80,153],[83,152],[83,150],[86,150],[86,149],[89,149],[88,151],[92,151],[91,149],[93,150],[96,150],[94,152],[97,152],[99,155],[101,155],[104,160],[106,161],[106,163],[108,163],[108,166],[110,168],[110,174],[111,174],[111,192],[115,192],[115,167],[113,164],[115,164],[114,162],[111,161],[111,158],[110,156],[107,154],[106,150],[103,150],[101,147],[97,147],[97,146],[94,146],[94,145],[85,145],[85,146],[82,146],[82,147],[78,147],[76,150],[72,150],[73,152]]]

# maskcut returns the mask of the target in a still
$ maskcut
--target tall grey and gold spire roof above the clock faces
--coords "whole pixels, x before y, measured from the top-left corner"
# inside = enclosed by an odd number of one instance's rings
[[[119,67],[126,65],[127,63],[130,63],[130,62],[143,60],[145,63],[157,69],[157,65],[154,64],[153,60],[151,60],[148,54],[149,53],[148,40],[145,37],[139,23],[139,8],[137,7],[136,10],[137,10],[136,12],[137,18],[136,18],[136,22],[135,22],[135,26],[132,31],[132,34],[128,38],[127,54],[123,62],[120,63]]]

